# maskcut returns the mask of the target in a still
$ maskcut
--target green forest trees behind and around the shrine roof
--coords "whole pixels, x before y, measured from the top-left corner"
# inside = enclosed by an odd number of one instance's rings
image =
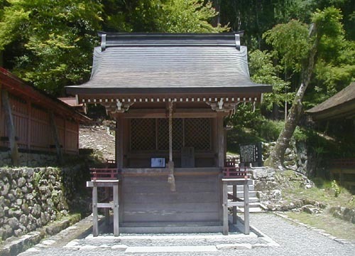
[[[239,132],[239,143],[245,137],[275,141],[309,67],[312,23],[317,23],[319,40],[303,97],[308,109],[354,81],[352,0],[0,0],[0,66],[59,97],[66,85],[89,79],[97,31],[244,31],[251,78],[273,85],[273,93],[256,111],[239,105],[227,122]],[[323,158],[354,157],[349,140],[354,120],[334,126],[311,124],[305,117],[297,120],[295,140],[307,141]]]

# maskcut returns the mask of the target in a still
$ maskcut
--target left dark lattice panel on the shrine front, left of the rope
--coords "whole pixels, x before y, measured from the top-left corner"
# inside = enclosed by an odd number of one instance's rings
[[[155,149],[155,119],[131,119],[131,150]]]

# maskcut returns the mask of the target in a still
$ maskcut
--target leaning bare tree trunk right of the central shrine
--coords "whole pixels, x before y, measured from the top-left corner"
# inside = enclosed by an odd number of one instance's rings
[[[310,35],[315,33],[315,24],[310,29]],[[266,166],[273,167],[275,169],[283,169],[284,168],[284,158],[285,158],[285,151],[290,144],[291,137],[293,136],[293,132],[297,127],[297,123],[300,120],[302,115],[302,100],[303,96],[305,95],[305,90],[310,83],[310,79],[313,73],[313,67],[315,65],[315,55],[317,53],[317,46],[318,46],[319,39],[317,35],[315,35],[315,41],[310,48],[310,54],[308,57],[308,62],[306,68],[302,72],[302,82],[300,87],[297,90],[295,95],[295,99],[293,100],[293,105],[288,113],[288,117],[285,122],[285,127],[280,132],[278,139],[276,141],[275,147],[271,151],[270,156],[265,161]]]

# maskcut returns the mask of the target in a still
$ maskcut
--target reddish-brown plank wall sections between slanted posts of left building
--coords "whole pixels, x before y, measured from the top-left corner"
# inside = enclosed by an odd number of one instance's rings
[[[45,107],[31,102],[30,99],[11,95],[9,102],[16,131],[16,142],[19,149],[30,151],[55,152],[53,128],[50,123],[50,112]],[[77,154],[79,147],[79,122],[53,113],[55,126],[62,153]],[[0,146],[9,147],[9,137],[4,117],[2,102],[0,104]]]

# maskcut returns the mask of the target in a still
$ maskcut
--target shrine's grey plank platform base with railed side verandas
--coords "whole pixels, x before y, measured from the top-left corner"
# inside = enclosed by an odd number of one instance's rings
[[[243,176],[222,178],[216,168],[176,169],[177,191],[172,192],[165,178],[168,175],[166,169],[123,169],[120,178],[116,171],[92,169],[92,181],[87,181],[87,187],[93,188],[94,236],[99,235],[98,208],[105,208],[107,220],[109,209],[113,210],[114,235],[117,236],[119,230],[123,233],[147,233],[149,230],[154,233],[153,230],[165,232],[167,227],[192,233],[222,232],[228,235],[228,208],[233,207],[233,224],[236,224],[236,209],[244,207],[243,232],[249,234],[249,185],[253,181],[245,178],[244,173]],[[101,176],[104,178],[100,179]],[[243,200],[236,196],[237,185],[244,186]],[[228,194],[228,186],[233,186],[233,195]],[[100,203],[97,188],[105,188],[106,196],[107,190],[113,188],[113,202]],[[228,201],[229,198],[232,201]],[[170,224],[164,228],[166,223]],[[219,223],[218,226],[215,223]]]

